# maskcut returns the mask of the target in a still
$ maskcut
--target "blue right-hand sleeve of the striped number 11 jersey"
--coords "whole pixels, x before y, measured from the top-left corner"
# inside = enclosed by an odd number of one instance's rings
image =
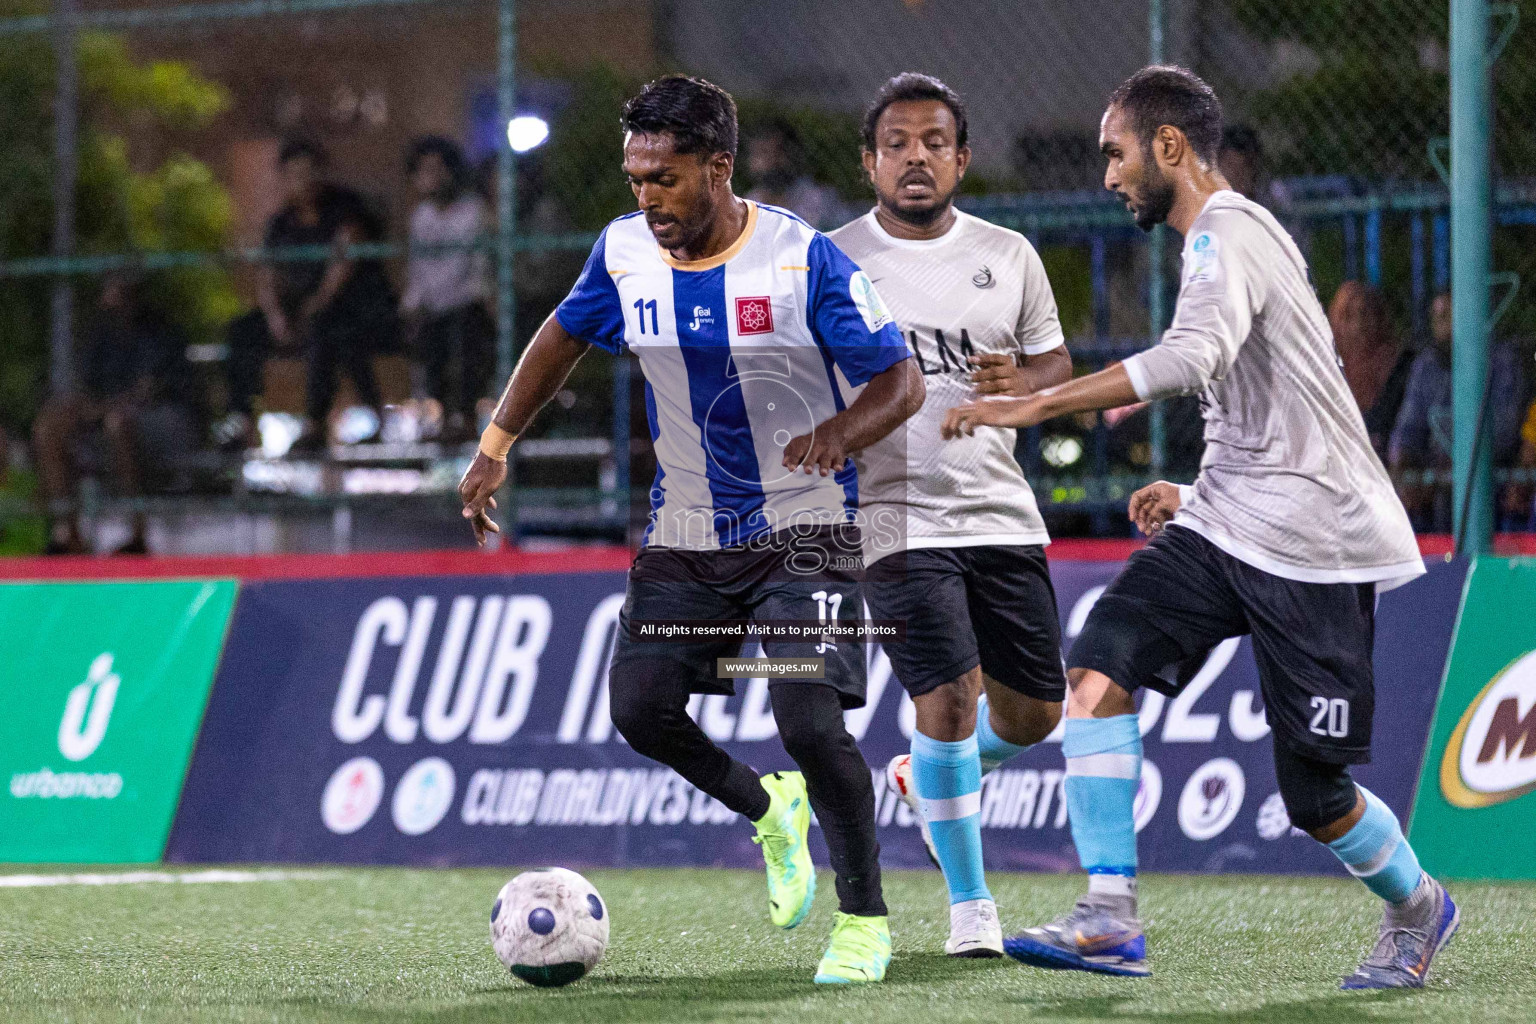
[[[833,239],[817,233],[806,263],[806,321],[849,384],[859,387],[911,355],[869,276]]]

